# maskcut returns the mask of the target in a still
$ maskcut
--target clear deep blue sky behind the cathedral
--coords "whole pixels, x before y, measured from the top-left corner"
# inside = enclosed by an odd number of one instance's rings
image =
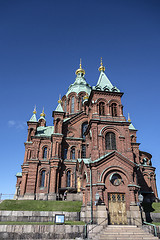
[[[15,192],[34,105],[52,125],[79,59],[93,86],[100,57],[153,156],[160,192],[159,12],[159,0],[0,0],[0,192]]]

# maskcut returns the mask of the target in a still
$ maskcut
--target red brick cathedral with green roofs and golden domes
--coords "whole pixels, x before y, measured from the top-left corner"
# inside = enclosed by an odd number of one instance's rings
[[[151,154],[140,151],[137,130],[123,115],[123,93],[99,67],[96,86],[85,80],[81,63],[76,79],[46,126],[44,110],[36,109],[28,124],[22,173],[17,173],[16,198],[82,200],[83,206],[103,203],[110,222],[126,223],[138,195],[157,198]],[[115,210],[116,209],[116,210]],[[115,214],[116,211],[116,214]]]

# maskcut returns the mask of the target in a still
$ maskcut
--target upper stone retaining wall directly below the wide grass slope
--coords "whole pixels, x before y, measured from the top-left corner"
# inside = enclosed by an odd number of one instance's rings
[[[0,221],[54,222],[55,214],[64,214],[66,221],[80,220],[79,212],[0,211]]]

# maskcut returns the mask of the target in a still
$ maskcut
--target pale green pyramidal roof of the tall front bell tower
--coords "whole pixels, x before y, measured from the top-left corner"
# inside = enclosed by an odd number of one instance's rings
[[[100,90],[100,91],[109,91],[109,92],[120,92],[117,87],[114,87],[104,71],[100,72],[100,76],[97,82],[97,85],[93,87],[93,89]]]

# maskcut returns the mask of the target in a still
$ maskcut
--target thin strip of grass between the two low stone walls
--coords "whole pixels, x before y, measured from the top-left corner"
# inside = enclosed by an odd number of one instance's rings
[[[55,225],[55,223],[54,222],[0,222],[0,225]],[[65,221],[65,225],[85,225],[85,222]]]

